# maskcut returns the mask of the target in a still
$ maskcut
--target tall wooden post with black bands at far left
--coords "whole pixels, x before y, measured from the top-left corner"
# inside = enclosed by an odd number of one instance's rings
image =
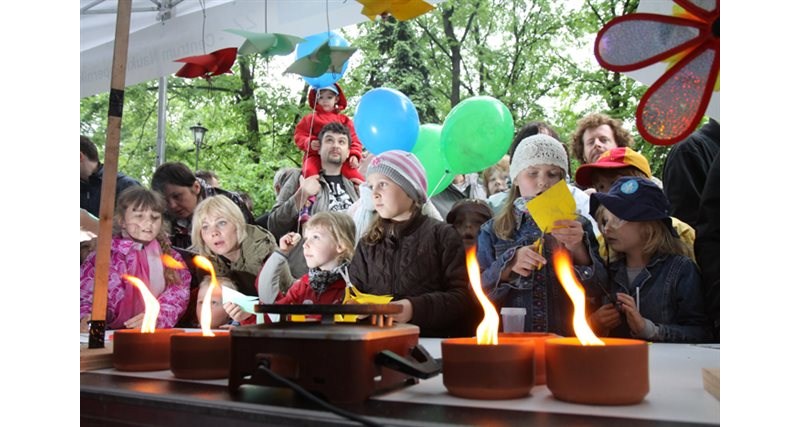
[[[97,236],[97,261],[89,326],[89,348],[105,346],[106,308],[108,306],[108,270],[111,262],[111,226],[117,188],[119,134],[125,100],[125,69],[128,64],[128,37],[131,27],[131,0],[119,0],[114,35],[114,58],[111,65],[111,93],[108,99],[108,126],[100,191],[100,233]]]

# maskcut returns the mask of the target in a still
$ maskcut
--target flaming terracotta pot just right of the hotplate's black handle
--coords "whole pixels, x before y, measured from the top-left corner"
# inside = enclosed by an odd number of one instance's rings
[[[528,396],[534,384],[534,345],[500,338],[478,345],[475,338],[442,341],[442,375],[447,391],[468,399],[514,399]]]

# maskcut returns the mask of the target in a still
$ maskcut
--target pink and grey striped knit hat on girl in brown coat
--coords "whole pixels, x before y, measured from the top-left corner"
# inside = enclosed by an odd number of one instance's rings
[[[390,150],[373,157],[367,167],[367,176],[373,173],[386,175],[399,185],[408,197],[425,204],[428,200],[428,180],[425,168],[417,156],[407,151]]]

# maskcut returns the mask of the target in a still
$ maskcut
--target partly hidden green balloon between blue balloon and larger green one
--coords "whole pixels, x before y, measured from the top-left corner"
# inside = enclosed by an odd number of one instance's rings
[[[456,174],[450,170],[447,159],[442,153],[442,125],[426,123],[419,127],[417,142],[411,150],[425,167],[425,178],[428,180],[428,197],[440,193],[447,188]]]

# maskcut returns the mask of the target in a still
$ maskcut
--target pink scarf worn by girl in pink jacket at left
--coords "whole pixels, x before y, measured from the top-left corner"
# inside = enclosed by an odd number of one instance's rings
[[[166,283],[164,280],[164,266],[161,264],[161,245],[158,240],[153,240],[148,244],[135,243],[131,247],[134,255],[133,269],[128,271],[131,276],[136,276],[150,289],[150,293],[158,298]],[[124,297],[120,301],[119,313],[114,322],[109,325],[110,329],[121,329],[125,327],[125,322],[131,317],[144,312],[144,298],[136,286],[129,281],[120,278],[124,288]]]

